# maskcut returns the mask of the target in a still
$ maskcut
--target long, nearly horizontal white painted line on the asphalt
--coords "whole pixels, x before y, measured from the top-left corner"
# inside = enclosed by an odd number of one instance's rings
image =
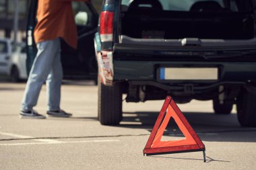
[[[34,144],[72,144],[72,143],[95,143],[95,142],[119,142],[120,140],[81,140],[81,141],[57,141],[57,142],[29,142],[29,143],[0,143],[0,146],[21,146]]]

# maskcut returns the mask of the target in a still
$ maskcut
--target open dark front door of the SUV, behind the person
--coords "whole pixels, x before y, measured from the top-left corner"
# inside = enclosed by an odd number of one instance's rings
[[[27,25],[27,60],[29,73],[36,56],[34,42],[34,27],[36,26],[36,10],[38,0],[30,1]],[[83,1],[72,2],[73,13],[77,25],[77,50],[61,40],[61,62],[64,79],[91,79],[97,81],[98,67],[94,50],[94,34],[98,27],[98,13],[91,3]]]

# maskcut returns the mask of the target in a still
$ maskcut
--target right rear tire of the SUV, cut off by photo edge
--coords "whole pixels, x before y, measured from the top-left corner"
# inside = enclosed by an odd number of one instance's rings
[[[256,95],[243,89],[236,101],[238,122],[243,127],[256,127]]]

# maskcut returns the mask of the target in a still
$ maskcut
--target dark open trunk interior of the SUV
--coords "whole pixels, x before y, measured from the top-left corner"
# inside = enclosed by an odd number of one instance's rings
[[[255,36],[253,12],[127,9],[121,34],[131,38],[248,40]]]

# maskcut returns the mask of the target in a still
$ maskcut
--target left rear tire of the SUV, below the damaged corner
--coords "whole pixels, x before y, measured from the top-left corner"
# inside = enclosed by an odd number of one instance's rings
[[[98,81],[98,120],[102,125],[116,125],[122,120],[121,84],[103,85]]]

